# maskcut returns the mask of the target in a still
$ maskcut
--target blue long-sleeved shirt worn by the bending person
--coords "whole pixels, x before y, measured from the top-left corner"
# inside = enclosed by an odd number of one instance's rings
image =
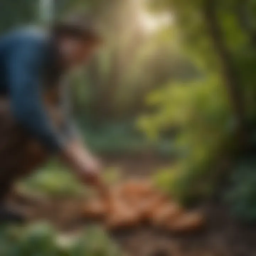
[[[43,92],[61,77],[52,49],[50,38],[35,28],[3,36],[0,39],[0,95],[10,98],[17,124],[48,151],[57,153],[63,148],[67,135],[53,126],[43,102]],[[67,119],[65,123],[69,126],[70,122]]]

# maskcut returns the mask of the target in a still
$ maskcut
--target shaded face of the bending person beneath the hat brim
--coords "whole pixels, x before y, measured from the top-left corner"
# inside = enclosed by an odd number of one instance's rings
[[[60,50],[69,69],[84,65],[96,52],[98,43],[80,39],[63,38]]]

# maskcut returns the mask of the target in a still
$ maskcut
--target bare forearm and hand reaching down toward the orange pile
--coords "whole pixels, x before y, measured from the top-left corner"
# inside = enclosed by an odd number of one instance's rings
[[[79,179],[101,189],[101,163],[78,143],[70,143],[62,153],[62,159],[75,172]]]

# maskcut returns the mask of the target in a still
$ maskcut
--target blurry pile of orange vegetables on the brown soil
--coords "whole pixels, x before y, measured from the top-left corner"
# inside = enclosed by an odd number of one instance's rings
[[[110,230],[132,228],[140,223],[174,232],[195,231],[204,225],[199,211],[187,212],[148,181],[130,180],[85,203],[87,219],[102,220]]]

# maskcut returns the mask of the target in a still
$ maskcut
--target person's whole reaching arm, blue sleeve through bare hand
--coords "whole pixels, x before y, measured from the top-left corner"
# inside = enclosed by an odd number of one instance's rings
[[[64,140],[44,108],[41,87],[43,48],[38,42],[23,42],[10,56],[8,73],[11,107],[17,123],[47,150],[92,185],[99,183],[98,166],[84,158],[72,140]]]

